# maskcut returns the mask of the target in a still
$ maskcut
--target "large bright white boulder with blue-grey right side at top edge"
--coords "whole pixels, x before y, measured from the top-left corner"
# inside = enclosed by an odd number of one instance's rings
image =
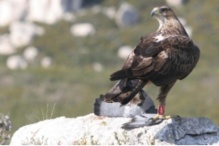
[[[30,0],[27,19],[30,21],[54,24],[65,16],[65,13],[77,11],[83,0]]]

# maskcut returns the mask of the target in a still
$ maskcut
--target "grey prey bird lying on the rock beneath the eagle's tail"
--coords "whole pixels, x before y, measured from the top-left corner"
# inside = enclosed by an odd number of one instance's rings
[[[136,118],[156,113],[153,100],[144,90],[140,90],[128,104],[123,106],[119,102],[105,102],[103,95],[96,98],[94,102],[94,114],[97,116]]]

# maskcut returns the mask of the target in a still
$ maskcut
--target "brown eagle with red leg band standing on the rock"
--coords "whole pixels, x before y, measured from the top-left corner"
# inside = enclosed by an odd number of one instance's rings
[[[141,37],[123,67],[111,74],[110,80],[118,82],[104,95],[104,101],[125,105],[152,82],[160,88],[157,116],[153,119],[162,119],[169,91],[177,80],[191,73],[200,50],[169,6],[155,7],[151,16],[159,22],[157,31]]]

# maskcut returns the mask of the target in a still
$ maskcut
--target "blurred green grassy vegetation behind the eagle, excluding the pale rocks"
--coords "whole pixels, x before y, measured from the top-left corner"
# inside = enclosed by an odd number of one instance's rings
[[[75,117],[93,112],[93,102],[109,90],[115,82],[109,75],[120,69],[124,60],[117,56],[121,45],[135,46],[139,38],[158,27],[150,18],[153,7],[161,0],[127,0],[140,12],[140,22],[132,27],[119,28],[114,20],[90,8],[76,22],[90,22],[97,29],[86,38],[73,37],[74,23],[61,21],[43,26],[45,35],[30,44],[40,50],[39,58],[50,56],[51,68],[43,69],[32,63],[26,70],[6,68],[6,57],[0,57],[0,112],[9,114],[12,131],[43,120],[45,114]],[[104,7],[119,7],[122,0],[103,0]],[[183,81],[178,81],[167,97],[167,113],[181,116],[205,116],[219,124],[219,1],[192,0],[181,9],[175,9],[193,28],[193,40],[201,49],[201,58],[195,70]],[[0,32],[8,32],[3,28]],[[22,53],[22,48],[18,53]],[[103,65],[102,72],[93,69],[93,63]],[[150,84],[146,91],[156,102],[158,88]],[[52,111],[54,107],[54,111]],[[50,117],[50,116],[49,116]]]

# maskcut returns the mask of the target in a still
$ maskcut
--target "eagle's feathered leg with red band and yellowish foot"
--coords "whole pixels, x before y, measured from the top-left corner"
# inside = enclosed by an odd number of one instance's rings
[[[171,116],[165,116],[165,103],[166,103],[167,94],[169,93],[170,89],[173,87],[174,84],[175,82],[172,82],[170,84],[161,86],[160,93],[157,98],[159,102],[158,111],[157,111],[157,115],[151,119],[152,123],[160,123],[165,119],[171,118]]]

